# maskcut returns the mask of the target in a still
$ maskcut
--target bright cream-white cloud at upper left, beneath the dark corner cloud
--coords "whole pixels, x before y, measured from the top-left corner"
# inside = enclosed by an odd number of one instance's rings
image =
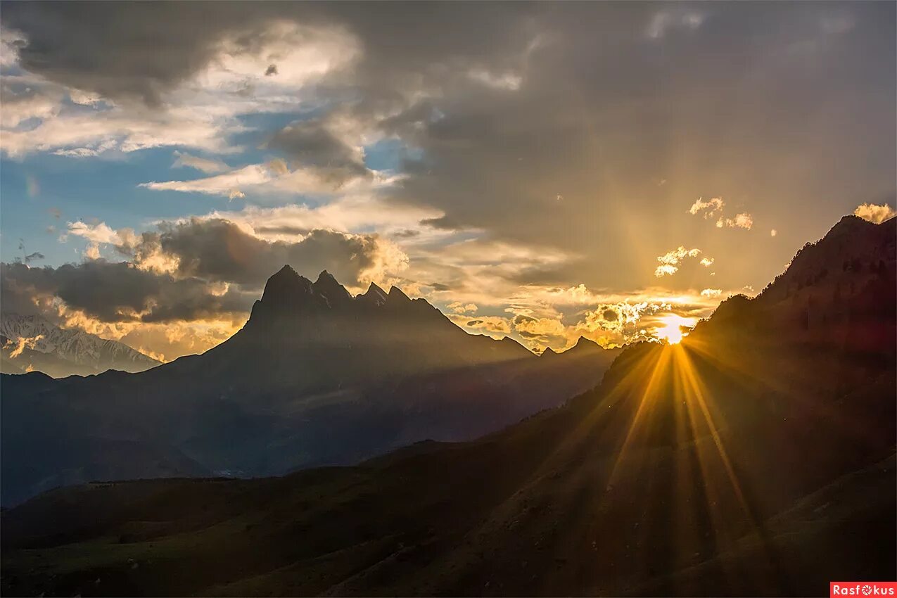
[[[17,106],[6,117],[4,98],[0,148],[13,157],[48,151],[89,157],[161,146],[231,152],[228,138],[245,129],[240,115],[294,110],[303,90],[359,56],[357,40],[344,28],[255,10],[241,14],[247,8],[225,9],[213,22],[186,7],[162,11],[167,17],[139,8],[85,9],[91,31],[78,39],[58,34],[84,22],[68,9],[4,11],[4,27],[24,33],[10,60],[40,85],[30,85],[35,91],[27,101],[6,94]],[[157,39],[154,47],[165,51],[147,52],[110,30],[128,31],[127,39]],[[266,76],[274,57],[278,74]],[[19,127],[31,120],[39,122]]]

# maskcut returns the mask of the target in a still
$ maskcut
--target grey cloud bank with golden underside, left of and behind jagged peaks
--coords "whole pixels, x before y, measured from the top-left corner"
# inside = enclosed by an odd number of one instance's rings
[[[67,234],[88,240],[83,263],[0,264],[4,311],[124,339],[162,359],[227,338],[283,264],[309,275],[327,269],[361,291],[368,282],[398,282],[408,259],[377,235],[309,230],[289,242],[267,240],[246,223],[212,218],[161,222],[139,234],[104,222],[69,222]],[[127,261],[104,259],[100,244]]]

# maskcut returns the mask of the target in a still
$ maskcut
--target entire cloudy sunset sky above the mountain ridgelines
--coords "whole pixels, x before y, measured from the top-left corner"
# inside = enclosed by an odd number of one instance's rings
[[[172,360],[292,264],[535,351],[692,325],[893,215],[895,6],[4,3],[0,308]]]

